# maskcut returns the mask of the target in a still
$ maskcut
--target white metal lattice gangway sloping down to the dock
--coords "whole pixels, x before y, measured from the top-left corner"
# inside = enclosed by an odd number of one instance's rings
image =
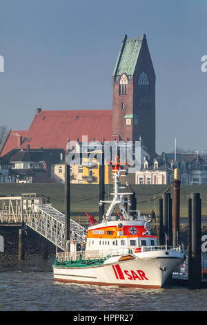
[[[65,250],[65,216],[37,194],[0,196],[0,224],[23,224]],[[81,243],[86,229],[70,219],[70,240]]]

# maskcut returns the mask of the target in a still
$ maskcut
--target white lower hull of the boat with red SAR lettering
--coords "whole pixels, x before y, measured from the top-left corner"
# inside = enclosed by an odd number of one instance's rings
[[[138,256],[138,255],[137,255]],[[53,266],[55,281],[137,288],[162,288],[183,256],[136,257],[99,266]]]

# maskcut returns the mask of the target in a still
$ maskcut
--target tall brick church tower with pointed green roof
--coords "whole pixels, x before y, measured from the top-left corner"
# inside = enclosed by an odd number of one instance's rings
[[[138,141],[155,157],[155,71],[146,35],[124,35],[113,82],[112,137]]]

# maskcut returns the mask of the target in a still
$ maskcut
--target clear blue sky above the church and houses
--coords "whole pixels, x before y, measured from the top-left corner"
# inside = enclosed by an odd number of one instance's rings
[[[0,125],[35,109],[112,109],[121,40],[144,33],[156,73],[157,153],[207,152],[206,0],[1,0]]]

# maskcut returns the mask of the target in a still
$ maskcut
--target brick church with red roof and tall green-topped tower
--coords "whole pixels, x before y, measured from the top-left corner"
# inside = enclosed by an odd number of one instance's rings
[[[139,141],[155,158],[155,71],[146,35],[124,35],[112,75],[112,109],[37,109],[27,131],[9,130],[0,156],[12,149],[66,149],[70,141]]]

